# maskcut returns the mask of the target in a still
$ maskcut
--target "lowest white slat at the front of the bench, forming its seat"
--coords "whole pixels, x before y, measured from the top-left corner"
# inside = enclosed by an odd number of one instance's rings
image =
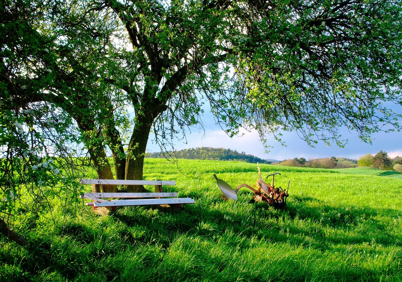
[[[192,198],[167,198],[167,199],[137,199],[137,200],[111,200],[105,202],[94,202],[98,206],[143,206],[147,204],[194,204]]]

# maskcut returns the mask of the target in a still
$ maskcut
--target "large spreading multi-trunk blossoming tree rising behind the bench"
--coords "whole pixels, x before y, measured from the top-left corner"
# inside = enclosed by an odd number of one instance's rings
[[[11,14],[7,7],[16,2],[35,4],[9,1],[2,13]],[[399,103],[399,2],[47,5],[53,8],[43,20],[29,25],[35,40],[46,39],[26,55],[29,68],[10,69],[18,62],[1,45],[2,83],[6,96],[18,98],[17,115],[33,102],[47,102],[74,119],[77,142],[88,150],[99,178],[113,178],[113,166],[118,179],[142,179],[151,129],[165,147],[199,124],[204,100],[231,136],[254,127],[262,139],[274,134],[281,141],[276,133],[296,130],[310,145],[321,139],[342,146],[340,126],[368,142],[385,124],[400,129],[400,115],[381,104]],[[33,87],[37,78],[46,83]]]

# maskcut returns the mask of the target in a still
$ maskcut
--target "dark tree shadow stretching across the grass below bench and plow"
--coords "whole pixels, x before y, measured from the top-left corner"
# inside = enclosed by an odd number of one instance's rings
[[[352,244],[402,245],[379,219],[392,210],[334,207],[304,196],[291,197],[284,210],[275,210],[265,203],[248,204],[245,196],[239,202],[201,197],[196,204],[177,212],[139,206],[120,208],[109,218],[107,226],[71,221],[52,236],[32,237],[29,255],[21,266],[34,276],[49,271],[73,280],[82,273],[96,272],[113,280],[120,273],[117,266],[101,270],[97,261],[106,265],[105,257],[113,260],[129,246],[154,246],[166,251],[182,236],[239,250],[272,243],[303,246],[322,253]],[[111,229],[112,235],[108,233]],[[13,260],[7,255],[0,261],[12,264]],[[159,262],[162,256],[149,260]]]

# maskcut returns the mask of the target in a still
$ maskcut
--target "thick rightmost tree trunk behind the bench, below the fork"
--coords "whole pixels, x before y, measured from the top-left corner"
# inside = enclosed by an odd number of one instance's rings
[[[138,116],[127,151],[125,167],[126,180],[142,180],[145,151],[152,122],[153,118],[151,114]],[[127,185],[127,192],[144,191],[146,190],[142,185]]]

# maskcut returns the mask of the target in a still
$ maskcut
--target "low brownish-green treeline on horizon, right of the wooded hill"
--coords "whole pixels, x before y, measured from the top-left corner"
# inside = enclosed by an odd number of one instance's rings
[[[345,157],[325,157],[321,159],[305,159],[304,157],[285,159],[278,163],[279,166],[299,166],[308,168],[354,168],[357,160]]]

